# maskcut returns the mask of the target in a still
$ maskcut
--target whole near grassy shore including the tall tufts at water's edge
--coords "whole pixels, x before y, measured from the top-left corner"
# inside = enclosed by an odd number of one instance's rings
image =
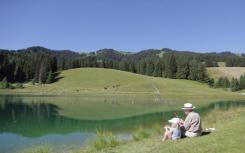
[[[245,141],[245,108],[232,108],[229,110],[214,110],[203,117],[203,127],[215,127],[211,134],[185,138],[175,142],[161,142],[162,125],[156,125],[151,131],[138,130],[135,135],[139,139],[130,141],[118,141],[113,135],[104,135],[91,142],[85,149],[71,150],[71,153],[206,153],[226,152],[240,153],[245,149],[241,142]],[[108,142],[105,142],[108,140]],[[43,147],[34,147],[24,153],[55,153],[55,150]]]

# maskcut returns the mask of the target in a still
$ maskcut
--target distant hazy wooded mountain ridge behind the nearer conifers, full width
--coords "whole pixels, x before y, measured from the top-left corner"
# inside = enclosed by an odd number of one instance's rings
[[[64,60],[76,60],[79,59],[80,56],[94,56],[97,60],[100,61],[140,61],[147,59],[159,59],[163,58],[165,54],[174,54],[177,59],[198,59],[204,61],[206,63],[212,62],[226,62],[229,63],[228,66],[239,66],[241,64],[241,60],[244,60],[245,56],[243,54],[238,55],[229,51],[225,52],[210,52],[210,53],[198,53],[193,51],[177,51],[169,48],[162,49],[148,49],[142,50],[139,52],[126,52],[126,51],[117,51],[114,49],[101,49],[95,52],[90,53],[78,53],[71,50],[52,50],[41,46],[33,46],[26,49],[20,50],[0,50],[1,53],[46,53],[52,56],[55,56],[59,61]],[[227,62],[229,60],[229,62]],[[239,61],[240,60],[240,61]],[[237,62],[239,61],[239,62]],[[59,65],[62,63],[59,63]],[[214,66],[215,64],[211,64],[210,66]],[[242,66],[245,66],[245,64]]]

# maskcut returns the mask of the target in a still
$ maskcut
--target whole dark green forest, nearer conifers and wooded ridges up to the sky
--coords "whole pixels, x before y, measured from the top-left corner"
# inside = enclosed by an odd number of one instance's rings
[[[245,66],[245,55],[231,52],[196,53],[168,48],[149,49],[137,53],[102,49],[90,53],[30,47],[21,50],[0,50],[0,80],[45,84],[55,81],[61,70],[98,67],[154,77],[189,79],[213,84],[206,67],[217,62],[226,66]]]

